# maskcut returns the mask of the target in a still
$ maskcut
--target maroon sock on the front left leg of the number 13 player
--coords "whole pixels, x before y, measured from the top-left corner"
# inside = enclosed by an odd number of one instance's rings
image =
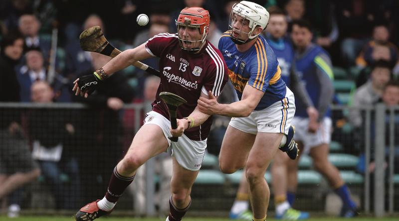
[[[135,176],[124,177],[118,173],[115,167],[108,184],[107,193],[105,193],[105,198],[112,203],[118,202],[119,197],[122,196],[126,188],[133,182]]]

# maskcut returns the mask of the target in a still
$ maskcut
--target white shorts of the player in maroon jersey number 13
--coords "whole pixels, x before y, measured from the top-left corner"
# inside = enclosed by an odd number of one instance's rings
[[[191,140],[185,134],[179,137],[178,142],[172,142],[171,137],[171,121],[162,114],[150,111],[144,119],[145,124],[157,124],[161,127],[166,139],[168,140],[168,152],[172,150],[172,156],[176,158],[180,166],[187,170],[200,170],[203,157],[205,156],[206,140]]]

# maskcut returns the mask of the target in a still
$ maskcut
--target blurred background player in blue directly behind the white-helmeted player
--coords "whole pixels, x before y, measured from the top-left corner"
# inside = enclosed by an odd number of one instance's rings
[[[294,49],[286,35],[288,26],[286,15],[277,6],[272,6],[267,11],[270,14],[269,23],[263,34],[277,56],[278,65],[281,69],[281,78],[287,87],[292,90],[295,99],[305,104],[307,113],[311,116],[310,118],[316,120],[318,112],[294,70]],[[308,219],[309,213],[293,209],[290,201],[287,199],[287,161],[289,160],[285,153],[277,151],[271,168],[276,219],[294,221]],[[236,199],[230,210],[230,219],[252,220],[252,213],[248,211],[248,199],[248,182],[244,177],[240,180]]]

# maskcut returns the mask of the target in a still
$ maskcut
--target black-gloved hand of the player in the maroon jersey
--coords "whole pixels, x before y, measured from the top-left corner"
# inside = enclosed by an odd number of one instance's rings
[[[72,91],[76,91],[75,95],[84,96],[87,98],[91,93],[93,93],[102,83],[95,74],[84,75],[73,82],[75,85]]]

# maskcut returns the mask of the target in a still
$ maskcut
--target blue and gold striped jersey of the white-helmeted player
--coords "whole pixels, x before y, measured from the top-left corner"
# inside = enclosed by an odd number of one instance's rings
[[[281,79],[281,69],[264,37],[259,36],[250,49],[241,53],[226,31],[219,40],[218,48],[226,61],[228,77],[238,99],[241,100],[246,85],[265,93],[255,110],[265,109],[285,97],[286,85]]]

